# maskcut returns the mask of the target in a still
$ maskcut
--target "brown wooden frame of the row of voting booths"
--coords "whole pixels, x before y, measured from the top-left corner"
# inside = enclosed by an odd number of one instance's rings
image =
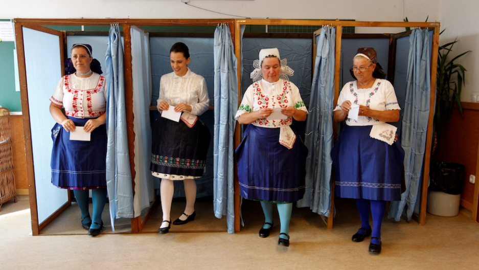
[[[437,68],[437,57],[439,50],[439,22],[375,22],[375,21],[341,21],[341,20],[268,20],[268,19],[14,19],[15,22],[15,36],[16,36],[16,46],[17,46],[17,58],[18,58],[18,69],[19,69],[19,79],[20,79],[20,96],[21,96],[21,106],[22,106],[22,115],[24,122],[24,132],[25,132],[25,147],[26,147],[26,159],[27,159],[27,176],[29,184],[29,194],[30,194],[30,210],[31,210],[31,220],[32,220],[32,233],[33,235],[39,235],[40,231],[47,226],[55,217],[57,217],[62,211],[64,211],[71,204],[71,197],[69,196],[68,201],[59,208],[55,213],[50,217],[45,219],[41,224],[38,223],[38,212],[37,212],[37,202],[36,202],[36,190],[35,190],[35,175],[33,167],[33,149],[32,149],[32,140],[31,140],[31,127],[30,127],[30,117],[29,117],[29,104],[28,104],[28,85],[27,85],[27,75],[26,75],[26,66],[25,66],[25,48],[23,40],[23,27],[51,33],[58,35],[60,39],[60,52],[61,60],[64,60],[64,47],[66,46],[66,34],[65,31],[56,31],[50,28],[43,27],[43,25],[59,25],[59,26],[108,26],[113,23],[117,23],[119,26],[123,27],[123,37],[124,37],[124,61],[125,61],[125,100],[126,100],[126,118],[127,118],[127,138],[128,138],[128,151],[130,159],[130,168],[131,168],[131,177],[132,185],[134,192],[134,178],[135,178],[135,168],[134,168],[134,149],[133,149],[133,88],[132,88],[132,66],[131,66],[131,40],[130,40],[130,26],[217,26],[219,24],[228,24],[230,31],[232,33],[233,43],[235,44],[235,55],[237,59],[240,59],[241,53],[241,43],[240,43],[240,27],[242,25],[290,25],[290,26],[322,26],[322,25],[331,25],[336,27],[336,62],[335,62],[335,95],[334,102],[337,102],[339,95],[340,85],[339,85],[339,68],[340,68],[340,49],[341,49],[341,35],[343,33],[343,27],[421,27],[429,28],[434,30],[432,37],[432,50],[431,50],[431,97],[430,97],[430,106],[434,106],[435,91],[436,89],[436,68]],[[313,61],[314,61],[314,51],[313,51]],[[314,67],[314,64],[312,65]],[[62,71],[64,75],[64,71]],[[240,85],[240,62],[238,61],[238,106],[239,101],[241,100],[241,85]],[[425,224],[426,217],[426,204],[427,204],[427,183],[429,175],[429,160],[430,160],[430,147],[431,147],[431,138],[432,138],[432,118],[434,116],[434,111],[430,110],[429,112],[429,122],[427,128],[426,136],[426,153],[424,156],[424,171],[423,179],[421,183],[421,204],[419,216],[415,216],[415,219],[418,220],[419,224]],[[235,131],[235,147],[240,142],[240,129],[239,124],[236,123]],[[240,231],[240,194],[239,194],[239,183],[236,174],[235,166],[235,231]],[[334,192],[331,193],[331,208],[334,205]],[[475,200],[477,202],[477,200]],[[477,209],[477,205],[475,208]],[[150,208],[151,210],[151,208]],[[477,214],[477,211],[473,211],[473,215]],[[332,213],[332,211],[331,211]],[[131,218],[131,233],[140,232],[145,222],[147,221],[150,215],[150,211],[146,214],[144,219],[142,217]],[[327,224],[327,228],[331,229],[333,226],[333,218],[325,218],[323,220]]]

